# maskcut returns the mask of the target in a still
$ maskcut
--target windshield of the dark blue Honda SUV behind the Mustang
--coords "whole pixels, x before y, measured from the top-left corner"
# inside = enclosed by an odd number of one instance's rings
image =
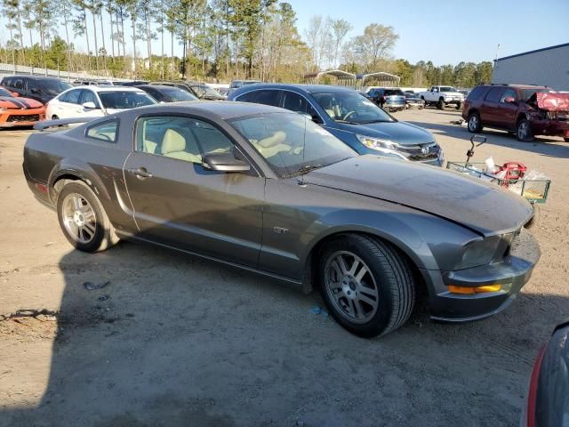
[[[312,97],[335,122],[361,125],[395,121],[388,113],[357,92],[312,93]]]

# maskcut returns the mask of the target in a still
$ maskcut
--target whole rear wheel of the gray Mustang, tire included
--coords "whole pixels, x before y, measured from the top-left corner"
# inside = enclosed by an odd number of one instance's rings
[[[119,240],[99,198],[83,181],[68,182],[61,189],[57,216],[68,242],[80,251],[104,251]]]

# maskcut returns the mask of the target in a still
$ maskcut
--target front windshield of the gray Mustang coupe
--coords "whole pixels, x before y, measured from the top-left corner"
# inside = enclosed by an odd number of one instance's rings
[[[300,114],[261,114],[237,118],[231,125],[281,178],[357,156],[349,146]]]

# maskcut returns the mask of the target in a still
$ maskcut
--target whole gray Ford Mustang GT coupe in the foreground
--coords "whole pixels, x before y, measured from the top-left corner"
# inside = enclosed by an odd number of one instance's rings
[[[260,104],[173,103],[35,133],[23,168],[79,250],[134,239],[314,286],[366,337],[405,324],[421,295],[437,320],[490,316],[540,256],[525,199],[358,157],[306,117]]]

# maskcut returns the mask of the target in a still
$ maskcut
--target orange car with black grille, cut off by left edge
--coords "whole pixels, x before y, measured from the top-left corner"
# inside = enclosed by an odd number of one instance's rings
[[[16,98],[0,86],[0,127],[33,126],[44,118],[45,106],[40,101]]]

